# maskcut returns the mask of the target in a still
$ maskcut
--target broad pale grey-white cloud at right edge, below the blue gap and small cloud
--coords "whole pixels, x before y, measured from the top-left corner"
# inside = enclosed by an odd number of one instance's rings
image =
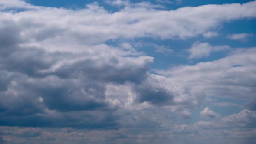
[[[165,82],[169,87],[181,89],[180,95],[190,95],[197,102],[205,96],[248,100],[255,93],[255,58],[255,48],[236,49],[222,59],[156,72],[168,76]]]

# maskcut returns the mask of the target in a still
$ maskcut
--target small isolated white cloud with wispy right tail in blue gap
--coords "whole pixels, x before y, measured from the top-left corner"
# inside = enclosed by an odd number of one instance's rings
[[[211,52],[218,52],[230,49],[230,46],[211,46],[209,43],[195,42],[188,52],[190,53],[189,59],[200,59],[210,56]]]

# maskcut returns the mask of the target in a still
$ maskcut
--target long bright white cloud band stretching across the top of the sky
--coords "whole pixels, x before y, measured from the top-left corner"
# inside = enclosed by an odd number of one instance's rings
[[[20,1],[19,1],[20,2]],[[7,3],[4,1],[2,3]],[[123,3],[121,1],[121,3]],[[156,10],[148,7],[149,3],[136,3],[136,7],[126,7],[115,13],[99,7],[97,3],[87,5],[85,9],[67,10],[64,8],[40,7],[39,10],[27,10],[23,13],[4,13],[0,20],[16,20],[19,26],[34,24],[30,29],[22,29],[28,39],[41,39],[42,42],[61,39],[79,43],[100,43],[119,37],[131,39],[138,37],[160,37],[162,39],[187,39],[207,33],[226,20],[255,17],[256,2],[244,4],[204,5],[199,7],[183,7],[177,10]],[[20,7],[25,7],[20,5]],[[189,13],[187,13],[189,11]],[[54,13],[54,14],[53,14]],[[25,23],[26,21],[26,23]],[[41,23],[41,24],[37,24]],[[44,27],[46,26],[47,27]],[[37,27],[35,27],[37,26]],[[43,27],[42,27],[43,26]],[[34,29],[40,29],[35,31]],[[51,30],[55,33],[47,33]],[[39,36],[40,35],[40,36]],[[69,35],[69,37],[67,37]],[[46,39],[44,39],[46,38]],[[34,45],[39,45],[33,41]],[[52,43],[52,42],[51,42]],[[60,43],[60,42],[59,42]],[[57,43],[57,44],[59,44]],[[63,43],[63,41],[62,41]]]

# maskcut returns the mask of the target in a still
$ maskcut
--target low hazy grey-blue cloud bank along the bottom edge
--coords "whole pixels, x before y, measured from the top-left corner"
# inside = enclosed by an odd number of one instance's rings
[[[190,140],[191,143],[196,144],[198,142],[204,143],[209,141],[210,144],[212,136],[218,137],[218,142],[228,142],[226,139],[236,139],[235,144],[243,143],[246,141],[249,144],[253,144],[255,141],[254,135],[256,134],[255,125],[255,111],[243,110],[237,114],[228,115],[223,118],[213,119],[212,121],[198,121],[194,124],[172,124],[165,116],[160,115],[152,111],[132,111],[135,117],[125,119],[127,124],[126,128],[119,130],[83,130],[70,128],[56,128],[53,131],[40,128],[21,128],[21,127],[0,127],[0,135],[3,140],[9,141],[9,143],[53,143],[66,142],[71,144],[80,144],[88,142],[89,144],[101,143],[106,144],[138,141],[140,144],[146,144],[149,141],[152,143],[162,142],[168,143],[173,141],[175,143],[186,143]],[[154,126],[156,128],[149,127],[151,121],[154,120]],[[126,115],[127,116],[127,115]],[[161,123],[159,123],[161,122]],[[145,127],[146,129],[144,129]],[[165,131],[156,131],[156,130]],[[68,130],[68,131],[66,131]],[[70,130],[70,131],[69,131]],[[150,131],[149,131],[150,130]],[[101,135],[101,137],[98,137]],[[173,139],[175,137],[175,139]],[[198,138],[203,137],[203,138]]]

